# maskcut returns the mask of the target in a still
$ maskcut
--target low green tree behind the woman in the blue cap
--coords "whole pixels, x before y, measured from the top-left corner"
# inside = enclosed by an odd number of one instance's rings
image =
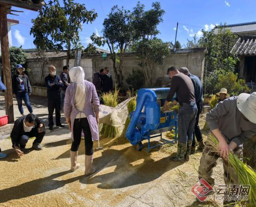
[[[12,74],[16,71],[17,64],[24,65],[26,63],[26,52],[20,47],[10,47],[10,63]]]

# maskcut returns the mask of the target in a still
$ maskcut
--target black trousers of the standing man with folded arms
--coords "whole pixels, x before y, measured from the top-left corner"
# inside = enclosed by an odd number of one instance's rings
[[[58,95],[58,97],[55,98],[47,98],[48,102],[48,121],[49,127],[52,127],[54,125],[53,123],[53,112],[55,109],[55,120],[56,120],[56,125],[61,124],[61,97]]]

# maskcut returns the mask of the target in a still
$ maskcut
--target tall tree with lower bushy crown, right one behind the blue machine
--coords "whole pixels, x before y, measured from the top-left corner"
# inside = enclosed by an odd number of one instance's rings
[[[135,29],[134,51],[140,59],[140,66],[148,86],[152,86],[154,63],[163,64],[166,55],[169,54],[169,43],[163,43],[156,38],[159,34],[157,26],[163,22],[165,11],[161,9],[160,2],[153,2],[152,9],[145,11],[145,6],[140,2],[134,7],[133,26]]]

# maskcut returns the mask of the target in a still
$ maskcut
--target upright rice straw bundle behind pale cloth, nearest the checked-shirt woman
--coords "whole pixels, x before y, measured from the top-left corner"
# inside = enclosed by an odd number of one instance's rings
[[[102,94],[102,101],[105,106],[116,107],[118,105],[118,94],[119,89],[111,91],[109,93]],[[103,124],[101,135],[103,138],[114,138],[118,135],[119,129],[115,126],[110,126],[108,124]]]

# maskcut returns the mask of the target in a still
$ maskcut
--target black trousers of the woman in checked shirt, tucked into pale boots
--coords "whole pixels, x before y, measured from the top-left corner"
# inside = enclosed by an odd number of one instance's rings
[[[74,141],[71,145],[71,151],[78,151],[81,142],[81,133],[84,131],[85,155],[93,155],[93,140],[90,132],[90,126],[87,118],[76,118],[73,125]]]

